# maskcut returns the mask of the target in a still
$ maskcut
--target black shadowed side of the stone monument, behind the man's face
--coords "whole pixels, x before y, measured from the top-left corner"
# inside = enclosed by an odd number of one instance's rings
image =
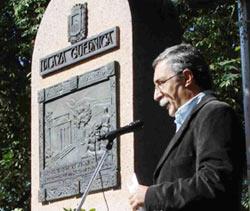
[[[154,168],[174,134],[173,120],[153,101],[153,60],[181,42],[182,29],[170,1],[129,1],[133,21],[134,119],[144,121],[135,136],[135,173],[152,184]]]

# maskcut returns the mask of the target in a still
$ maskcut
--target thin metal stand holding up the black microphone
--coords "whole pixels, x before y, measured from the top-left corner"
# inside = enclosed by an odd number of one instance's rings
[[[90,191],[90,187],[91,187],[93,181],[95,180],[97,174],[98,174],[99,171],[101,170],[101,168],[102,168],[102,166],[103,166],[103,163],[104,163],[104,161],[105,161],[105,159],[106,159],[106,157],[107,157],[109,151],[110,151],[110,150],[112,149],[112,147],[113,147],[113,141],[114,141],[114,139],[115,139],[115,136],[112,136],[112,137],[110,137],[110,138],[108,139],[108,143],[107,143],[107,145],[106,145],[106,150],[105,150],[104,153],[102,154],[102,157],[101,157],[100,161],[98,162],[98,165],[97,165],[97,167],[96,167],[96,169],[95,169],[93,175],[91,176],[91,178],[90,178],[90,180],[89,180],[89,183],[88,183],[88,185],[87,185],[87,188],[86,188],[86,190],[85,190],[85,192],[84,192],[84,194],[83,194],[83,196],[82,196],[81,202],[80,202],[80,204],[79,204],[79,206],[78,206],[78,208],[77,208],[76,211],[81,211],[81,207],[82,207],[82,205],[83,205],[83,203],[84,203],[84,201],[85,201],[85,199],[86,199],[86,197],[87,197],[87,195],[88,195],[88,193],[89,193],[89,191]]]

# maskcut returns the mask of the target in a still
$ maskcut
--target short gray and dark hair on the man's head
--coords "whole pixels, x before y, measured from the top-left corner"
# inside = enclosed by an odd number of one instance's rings
[[[170,65],[175,73],[188,68],[193,72],[196,84],[203,90],[212,88],[209,67],[198,49],[190,44],[179,44],[165,49],[153,62],[155,68],[160,62]]]

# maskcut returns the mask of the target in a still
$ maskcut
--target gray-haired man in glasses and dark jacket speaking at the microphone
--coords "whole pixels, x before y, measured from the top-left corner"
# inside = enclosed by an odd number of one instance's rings
[[[231,107],[210,91],[209,67],[197,49],[180,44],[153,63],[154,100],[175,117],[176,133],[153,185],[139,185],[133,210],[236,211],[240,208],[244,139]]]

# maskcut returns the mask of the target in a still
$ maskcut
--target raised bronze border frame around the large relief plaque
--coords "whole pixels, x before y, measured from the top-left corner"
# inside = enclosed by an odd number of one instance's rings
[[[71,193],[69,195],[58,197],[58,198],[47,198],[47,189],[42,188],[44,185],[44,178],[42,177],[42,173],[45,168],[45,158],[44,158],[44,143],[45,143],[45,122],[44,122],[44,108],[45,103],[55,100],[57,98],[63,97],[65,95],[71,94],[73,92],[80,91],[84,88],[87,88],[89,86],[92,86],[96,83],[100,83],[103,81],[110,81],[110,88],[113,90],[111,91],[111,113],[115,112],[115,117],[112,122],[114,122],[114,125],[112,127],[114,129],[117,128],[117,124],[119,121],[118,113],[119,109],[117,106],[117,101],[119,97],[119,88],[117,86],[118,84],[118,78],[119,78],[119,64],[116,61],[113,61],[111,63],[108,63],[100,68],[97,68],[95,70],[90,70],[87,73],[84,73],[82,75],[77,75],[74,77],[69,78],[68,80],[65,80],[61,83],[52,85],[48,88],[44,88],[38,91],[38,103],[39,103],[39,202],[46,203],[49,201],[55,201],[55,200],[61,200],[63,198],[67,197],[74,197],[77,195],[80,195],[84,192],[83,187],[80,183],[80,181],[77,181],[74,183],[77,187],[76,189],[78,191],[74,191],[74,193]],[[98,74],[101,73],[101,74]],[[91,75],[95,75],[97,77],[91,77]],[[84,80],[86,79],[86,81]],[[56,90],[56,91],[53,91]],[[41,118],[42,117],[42,118]],[[108,187],[104,189],[117,189],[120,187],[120,158],[119,158],[119,144],[116,140],[114,140],[114,148],[116,153],[116,178],[114,178],[114,183],[112,187]],[[91,190],[91,192],[100,192],[102,190]]]

